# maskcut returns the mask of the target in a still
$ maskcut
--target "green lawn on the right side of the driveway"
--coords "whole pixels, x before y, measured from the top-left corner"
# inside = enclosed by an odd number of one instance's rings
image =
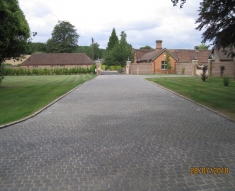
[[[201,77],[163,77],[148,80],[235,120],[235,81],[232,78],[229,86],[224,86],[221,77],[212,77],[206,82]]]

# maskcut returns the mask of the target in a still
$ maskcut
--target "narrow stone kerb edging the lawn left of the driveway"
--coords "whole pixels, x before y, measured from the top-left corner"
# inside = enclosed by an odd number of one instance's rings
[[[97,76],[94,77],[94,78],[91,79],[91,80],[94,80],[95,78],[97,78]],[[20,122],[22,122],[22,121],[25,121],[25,120],[27,120],[27,119],[30,119],[30,118],[32,118],[32,117],[38,115],[39,113],[41,113],[42,111],[44,111],[45,109],[47,109],[48,107],[50,107],[51,105],[53,105],[54,103],[56,103],[57,101],[59,101],[60,99],[62,99],[63,97],[65,97],[65,96],[67,96],[68,94],[70,94],[70,93],[71,93],[72,91],[74,91],[75,89],[77,89],[77,88],[79,88],[80,86],[82,86],[84,83],[87,83],[87,82],[89,82],[89,81],[91,81],[91,80],[88,80],[88,81],[83,82],[82,84],[79,84],[78,86],[76,86],[76,87],[73,88],[72,90],[68,91],[68,92],[65,93],[64,95],[58,97],[57,99],[55,99],[55,100],[52,101],[51,103],[47,104],[47,105],[46,105],[45,107],[43,107],[42,109],[36,111],[35,113],[33,113],[33,114],[31,114],[31,115],[29,115],[29,116],[23,118],[23,119],[19,119],[19,120],[17,120],[17,121],[13,121],[13,122],[11,122],[11,123],[7,123],[7,124],[4,124],[4,125],[0,125],[0,129],[6,128],[6,127],[8,127],[8,126],[11,126],[11,125],[14,125],[14,124],[17,124],[17,123],[20,123]]]

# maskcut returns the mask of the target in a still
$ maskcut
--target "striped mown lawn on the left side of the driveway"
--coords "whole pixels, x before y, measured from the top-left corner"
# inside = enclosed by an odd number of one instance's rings
[[[0,125],[43,108],[95,75],[6,76],[0,86]]]

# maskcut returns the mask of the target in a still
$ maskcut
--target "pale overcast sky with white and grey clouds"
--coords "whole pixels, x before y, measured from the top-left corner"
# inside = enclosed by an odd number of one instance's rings
[[[200,0],[187,0],[183,9],[171,0],[19,0],[30,29],[37,32],[33,42],[46,42],[58,20],[69,21],[80,35],[78,45],[89,46],[91,38],[106,48],[112,29],[118,37],[127,34],[133,48],[162,40],[163,48],[189,48],[201,44],[196,30]]]

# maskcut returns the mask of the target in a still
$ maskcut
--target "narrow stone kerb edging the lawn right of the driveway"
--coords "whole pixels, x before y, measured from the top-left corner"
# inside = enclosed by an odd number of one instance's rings
[[[181,95],[181,94],[178,94],[178,93],[176,93],[176,92],[174,92],[174,91],[172,91],[172,90],[170,90],[170,89],[167,89],[166,87],[163,87],[163,86],[161,86],[161,85],[159,85],[159,84],[157,84],[157,83],[154,83],[154,82],[152,82],[152,81],[150,81],[150,80],[147,80],[147,79],[144,79],[144,80],[146,80],[146,81],[148,81],[148,82],[150,82],[150,83],[152,83],[152,84],[154,84],[154,85],[156,85],[156,86],[158,86],[158,87],[160,87],[160,88],[162,88],[162,89],[165,89],[165,90],[167,90],[167,91],[169,91],[169,92],[171,92],[171,93],[173,93],[173,94],[175,94],[175,95],[178,95],[178,96],[180,96],[180,97],[182,97],[182,98],[184,98],[184,99],[186,99],[186,100],[188,100],[188,101],[190,101],[190,102],[192,102],[192,103],[195,103],[195,104],[197,104],[197,105],[199,105],[199,106],[201,106],[201,107],[203,107],[203,108],[205,108],[205,109],[208,109],[209,111],[212,111],[213,113],[216,113],[216,114],[218,114],[218,115],[220,115],[220,116],[222,116],[222,117],[224,117],[224,118],[226,118],[226,119],[228,119],[228,120],[230,120],[230,121],[232,121],[232,122],[235,122],[234,119],[231,119],[230,117],[228,117],[228,116],[226,116],[226,115],[224,115],[224,114],[222,114],[222,113],[220,113],[220,112],[218,112],[218,111],[216,111],[216,110],[213,110],[213,109],[211,109],[210,107],[207,107],[207,106],[202,105],[202,104],[200,104],[200,103],[198,103],[198,102],[195,102],[194,100],[192,100],[192,99],[190,99],[190,98],[188,98],[188,97],[185,97],[185,96],[183,96],[183,95]]]

